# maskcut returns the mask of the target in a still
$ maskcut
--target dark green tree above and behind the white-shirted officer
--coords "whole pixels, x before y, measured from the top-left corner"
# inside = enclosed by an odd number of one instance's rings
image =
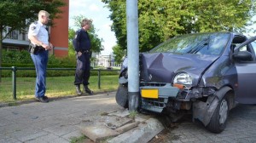
[[[62,0],[1,0],[0,2],[0,67],[2,65],[3,39],[9,36],[12,31],[26,32],[32,21],[38,20],[38,12],[42,9],[50,14],[51,19],[59,18],[60,7],[66,3]],[[54,25],[51,23],[51,25]],[[10,27],[9,31],[6,31]],[[5,36],[3,37],[3,32]],[[0,72],[1,75],[1,72]],[[1,81],[1,77],[0,77]]]

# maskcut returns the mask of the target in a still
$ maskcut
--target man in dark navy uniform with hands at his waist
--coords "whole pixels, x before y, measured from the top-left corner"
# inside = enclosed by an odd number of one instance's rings
[[[74,85],[77,94],[81,95],[80,84],[84,85],[84,92],[93,94],[88,88],[88,80],[90,78],[90,37],[88,30],[90,29],[91,20],[84,19],[81,22],[81,29],[76,31],[73,40],[73,46],[77,52],[77,67],[75,73]]]

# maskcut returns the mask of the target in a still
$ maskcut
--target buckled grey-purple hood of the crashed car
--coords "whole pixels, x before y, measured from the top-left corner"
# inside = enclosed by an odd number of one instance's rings
[[[178,72],[187,72],[197,84],[201,74],[218,59],[218,55],[206,54],[140,54],[141,81],[172,83]]]

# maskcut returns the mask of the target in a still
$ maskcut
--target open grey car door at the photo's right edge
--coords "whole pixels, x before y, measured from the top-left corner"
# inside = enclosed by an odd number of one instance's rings
[[[237,71],[236,101],[242,104],[256,104],[255,40],[256,37],[252,37],[234,49],[234,54],[252,54],[250,60],[245,60],[246,58],[235,60]]]

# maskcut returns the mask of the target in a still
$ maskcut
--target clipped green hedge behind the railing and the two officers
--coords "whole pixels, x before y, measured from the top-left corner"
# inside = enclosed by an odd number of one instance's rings
[[[6,51],[3,50],[2,58],[3,67],[31,67],[34,68],[32,58],[30,53],[26,50],[22,51]],[[48,70],[47,77],[65,77],[65,76],[74,76],[76,67],[76,57],[75,55],[69,55],[65,58],[56,58],[54,55],[49,55],[48,66],[47,68],[72,68],[73,70]],[[93,68],[91,68],[92,70]],[[101,75],[117,75],[119,74],[116,71],[101,71]],[[11,77],[11,70],[2,70],[2,77]],[[91,76],[97,76],[97,71],[90,71]],[[36,77],[36,72],[34,70],[18,70],[16,72],[17,77]]]

